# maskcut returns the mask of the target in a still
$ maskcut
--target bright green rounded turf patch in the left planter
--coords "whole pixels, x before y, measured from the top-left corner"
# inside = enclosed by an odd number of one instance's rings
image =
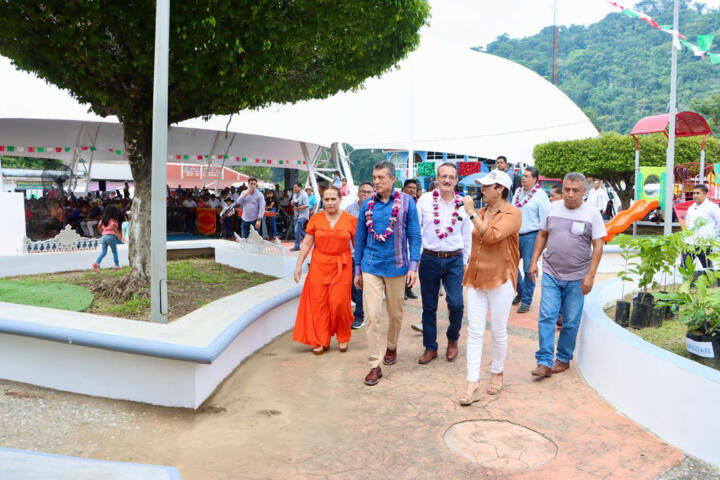
[[[93,294],[85,287],[37,280],[0,280],[0,302],[82,312],[90,308]]]

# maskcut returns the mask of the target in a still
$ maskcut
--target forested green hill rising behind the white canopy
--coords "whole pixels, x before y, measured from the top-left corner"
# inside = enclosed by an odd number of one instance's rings
[[[634,9],[660,25],[672,25],[672,6],[672,0],[643,0]],[[692,43],[697,35],[715,34],[711,51],[720,53],[720,9],[681,0],[680,32]],[[552,41],[549,26],[521,39],[503,35],[486,51],[550,80]],[[598,129],[627,133],[640,118],[668,110],[671,42],[670,35],[619,12],[589,26],[561,27],[558,86]],[[693,100],[711,95],[716,95],[711,102],[717,102],[718,94],[720,64],[711,65],[683,48],[678,56],[678,107],[689,109]]]

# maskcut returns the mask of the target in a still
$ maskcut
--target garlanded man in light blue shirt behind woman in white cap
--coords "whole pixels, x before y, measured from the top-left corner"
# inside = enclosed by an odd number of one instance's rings
[[[540,172],[537,168],[525,168],[521,180],[522,186],[513,196],[513,205],[520,209],[523,216],[520,226],[520,258],[523,269],[518,273],[517,296],[513,300],[513,305],[520,303],[518,313],[529,311],[532,304],[535,282],[528,275],[528,270],[535,248],[535,239],[540,230],[540,222],[550,206],[550,200],[538,182],[539,178]]]

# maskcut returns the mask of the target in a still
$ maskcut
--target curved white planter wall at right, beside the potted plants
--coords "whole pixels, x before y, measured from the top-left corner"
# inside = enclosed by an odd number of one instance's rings
[[[620,413],[705,462],[720,466],[720,371],[645,342],[603,312],[621,282],[585,300],[576,365]],[[627,289],[626,289],[627,291]]]

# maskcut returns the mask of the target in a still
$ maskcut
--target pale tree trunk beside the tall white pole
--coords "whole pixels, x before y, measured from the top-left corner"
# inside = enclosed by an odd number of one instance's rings
[[[128,257],[130,272],[120,279],[100,282],[94,291],[119,300],[150,295],[150,193],[152,185],[152,124],[123,123],[125,152],[135,193],[130,209]]]

